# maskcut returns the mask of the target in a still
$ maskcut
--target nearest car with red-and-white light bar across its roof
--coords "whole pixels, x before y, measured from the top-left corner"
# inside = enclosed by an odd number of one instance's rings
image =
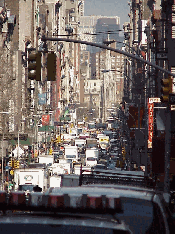
[[[30,194],[26,202],[23,192],[7,194],[1,191],[0,230],[2,233],[15,230],[15,233],[42,234],[133,233],[123,220],[113,216],[114,210],[120,209],[117,204],[108,204],[107,198],[106,206],[103,206],[101,202],[99,204],[100,197],[87,192],[81,187],[77,191],[56,188],[48,195],[39,192]]]

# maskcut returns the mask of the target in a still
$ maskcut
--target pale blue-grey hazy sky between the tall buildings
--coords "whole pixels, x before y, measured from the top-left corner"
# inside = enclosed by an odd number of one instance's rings
[[[129,0],[85,0],[84,15],[119,16],[120,29],[129,22]]]

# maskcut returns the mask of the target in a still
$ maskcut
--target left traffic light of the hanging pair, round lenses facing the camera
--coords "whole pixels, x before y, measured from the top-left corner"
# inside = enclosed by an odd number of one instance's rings
[[[28,55],[28,78],[41,81],[41,52]]]

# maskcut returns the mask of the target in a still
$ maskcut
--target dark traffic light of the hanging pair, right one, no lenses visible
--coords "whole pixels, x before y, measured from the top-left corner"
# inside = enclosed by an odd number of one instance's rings
[[[56,54],[54,52],[47,55],[47,80],[56,80]]]

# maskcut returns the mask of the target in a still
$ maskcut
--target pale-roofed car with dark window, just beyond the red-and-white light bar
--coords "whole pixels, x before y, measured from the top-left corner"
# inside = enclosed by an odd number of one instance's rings
[[[89,200],[89,206],[99,208],[109,204],[111,207],[116,205],[113,218],[119,222],[123,221],[131,233],[174,233],[174,220],[168,208],[168,196],[161,191],[125,185],[88,184],[76,188],[53,188],[50,195],[70,193],[76,197],[93,197],[92,202]],[[106,215],[110,219],[110,214]]]

